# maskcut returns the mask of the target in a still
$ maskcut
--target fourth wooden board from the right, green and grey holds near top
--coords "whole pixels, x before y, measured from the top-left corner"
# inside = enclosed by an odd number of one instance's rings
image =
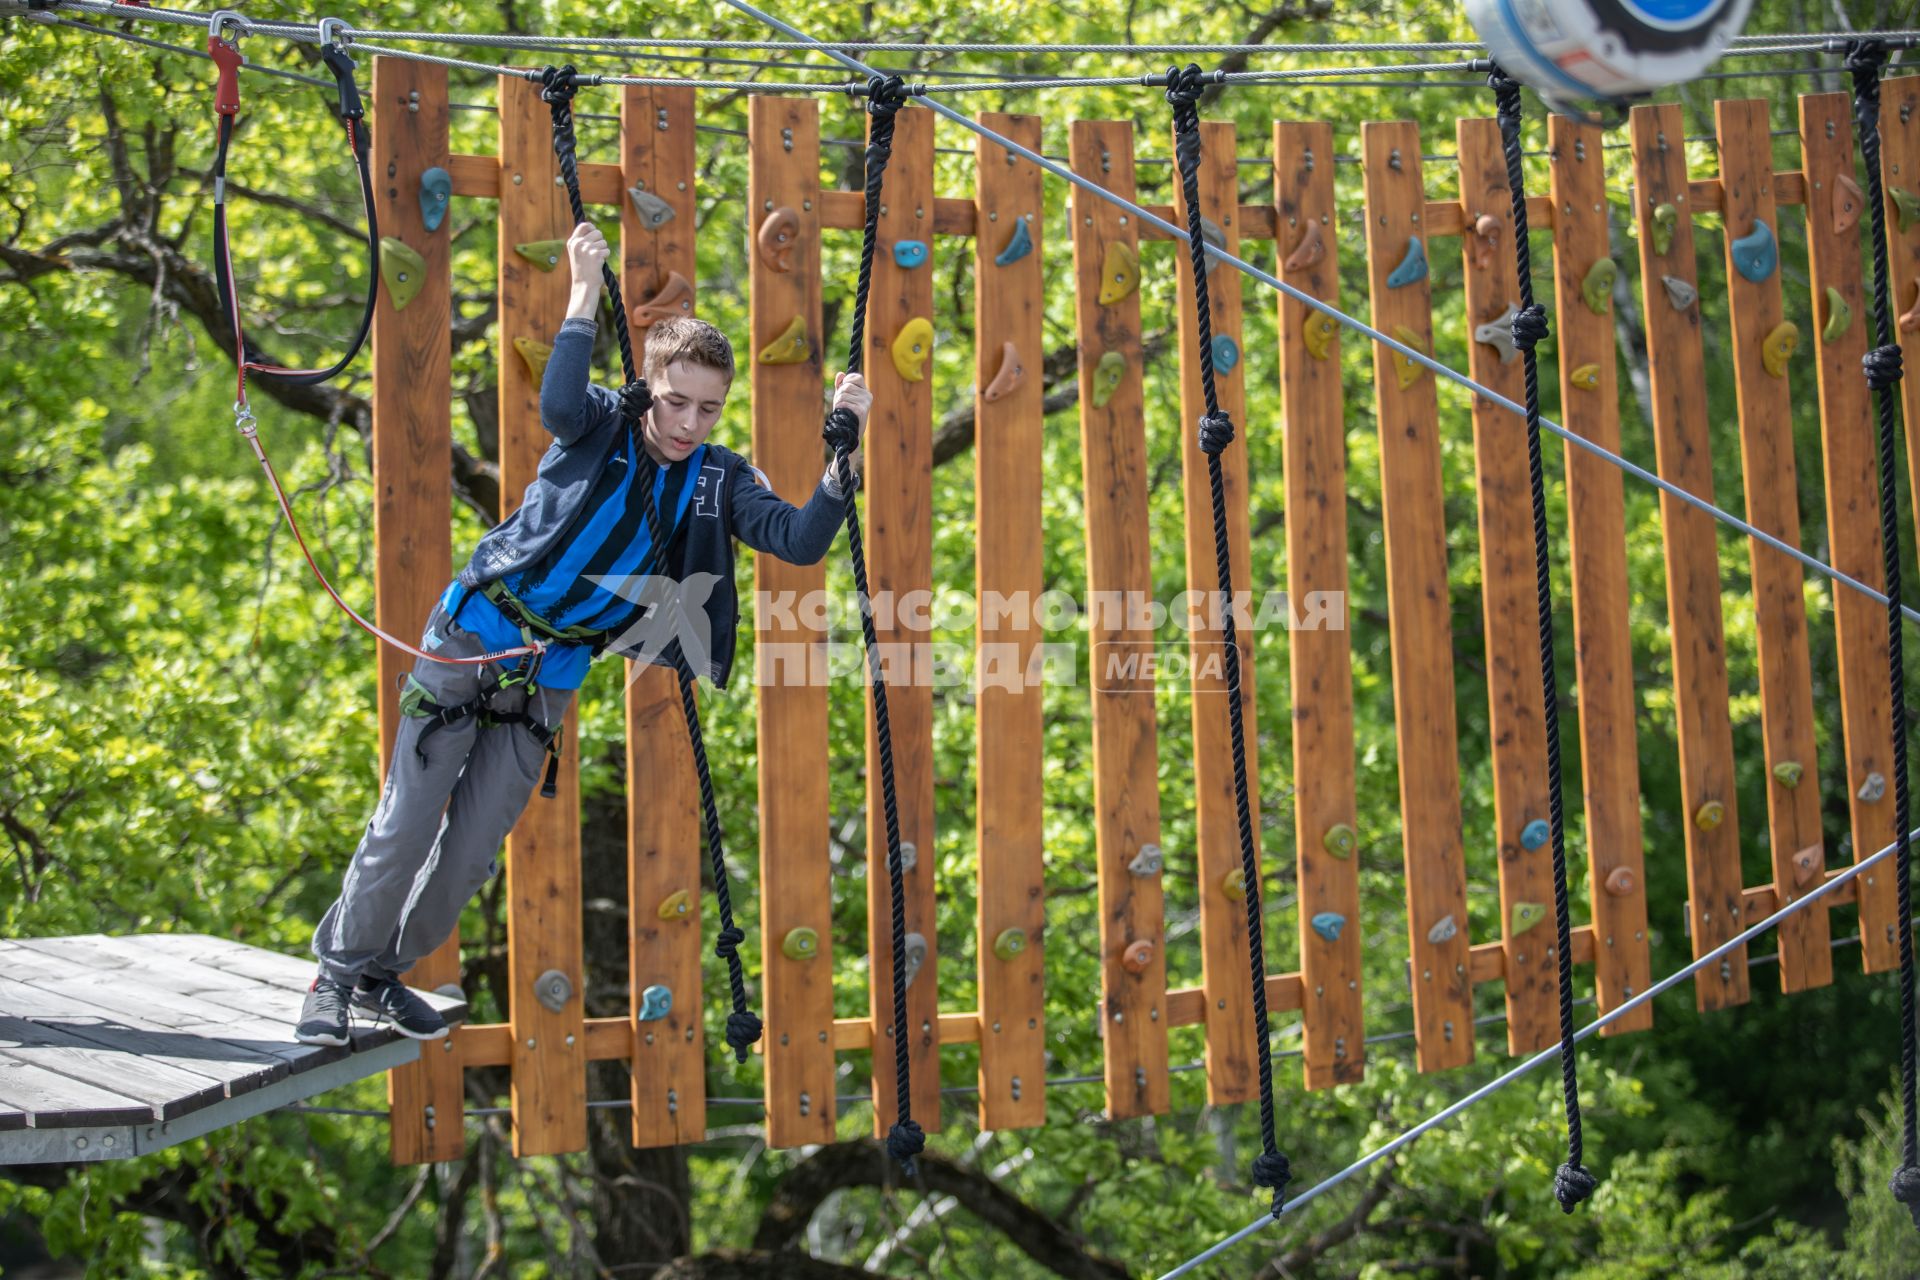
[[[1647,322],[1647,376],[1653,384],[1653,447],[1659,474],[1693,497],[1713,501],[1713,451],[1707,418],[1707,357],[1699,305],[1674,307],[1674,286],[1697,288],[1693,203],[1688,196],[1686,127],[1680,107],[1634,107],[1634,192],[1640,219],[1642,315]],[[1667,253],[1655,251],[1655,217],[1672,205]],[[1667,624],[1674,654],[1674,720],[1680,733],[1680,793],[1686,814],[1686,883],[1692,902],[1688,936],[1705,956],[1740,933],[1734,923],[1740,875],[1740,812],[1734,796],[1734,725],[1728,718],[1726,645],[1720,626],[1720,560],[1713,516],[1661,495],[1661,539],[1667,553]],[[1703,827],[1701,812],[1718,806],[1720,821]],[[1747,952],[1693,977],[1701,1011],[1747,1000]]]

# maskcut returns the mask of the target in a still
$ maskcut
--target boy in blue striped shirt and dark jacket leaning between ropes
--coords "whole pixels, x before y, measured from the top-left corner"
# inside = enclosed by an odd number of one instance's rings
[[[303,1044],[346,1044],[349,1009],[415,1040],[447,1034],[399,977],[453,933],[461,908],[493,875],[493,854],[549,754],[543,794],[553,794],[553,741],[572,691],[601,649],[626,649],[622,637],[649,629],[636,628],[647,612],[636,589],[643,566],[655,587],[660,578],[703,583],[701,599],[682,591],[666,603],[703,612],[697,631],[707,651],[684,651],[685,660],[724,687],[739,616],[732,539],[816,564],[839,532],[843,501],[831,468],[806,505],[793,507],[743,457],[707,441],[733,384],[733,351],[714,326],[674,319],[647,332],[653,407],[639,432],[628,430],[618,391],[589,386],[607,251],[588,223],[566,242],[572,294],[540,388],[540,418],[555,439],[524,503],[480,539],[420,641],[447,658],[536,639],[547,649],[484,666],[415,662],[386,789],[340,898],[313,935],[319,975],[296,1029]],[[866,428],[872,397],[858,374],[835,378],[833,403]],[[649,564],[647,489],[664,530],[664,564]],[[639,656],[672,664],[657,651],[653,643]]]

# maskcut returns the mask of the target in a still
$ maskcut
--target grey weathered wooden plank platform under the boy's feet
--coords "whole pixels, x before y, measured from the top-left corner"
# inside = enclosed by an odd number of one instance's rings
[[[348,1046],[298,1044],[313,971],[192,933],[0,940],[0,1165],[144,1155],[420,1055],[359,1017]]]

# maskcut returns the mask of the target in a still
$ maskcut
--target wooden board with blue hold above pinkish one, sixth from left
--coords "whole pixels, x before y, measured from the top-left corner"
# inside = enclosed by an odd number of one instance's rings
[[[1039,115],[987,111],[979,123],[1041,150]],[[1041,322],[1046,282],[1041,232],[1046,205],[1033,161],[987,138],[975,142],[973,154],[979,228],[973,242],[979,1125],[1021,1128],[1046,1123],[1044,687],[1027,677],[1043,639],[1035,606],[1044,589]],[[1016,225],[1025,226],[1033,249],[1002,267],[995,259]],[[1008,359],[1021,370],[1018,382],[987,399],[996,378],[1014,378],[1002,368]],[[1020,931],[1023,948],[1002,960],[995,942],[1008,929]]]

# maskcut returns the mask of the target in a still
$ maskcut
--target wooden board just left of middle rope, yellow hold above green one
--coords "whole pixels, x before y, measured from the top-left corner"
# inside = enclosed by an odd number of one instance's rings
[[[1133,129],[1121,121],[1073,121],[1073,171],[1133,200]],[[1125,601],[1154,591],[1146,541],[1146,409],[1140,388],[1139,288],[1110,303],[1110,267],[1139,255],[1139,225],[1117,207],[1073,198],[1073,313],[1079,330],[1081,459],[1087,491],[1087,641],[1092,660],[1092,804],[1100,883],[1100,1019],[1106,1036],[1106,1111],[1112,1119],[1167,1109],[1165,898],[1160,871],[1129,864],[1160,854],[1160,750],[1154,723],[1154,633],[1129,618]],[[1125,219],[1125,221],[1121,221]],[[1116,253],[1108,261],[1108,253]],[[1123,363],[1117,384],[1094,405],[1100,361]],[[1127,969],[1129,948],[1144,956]],[[1148,954],[1150,952],[1150,954]]]

